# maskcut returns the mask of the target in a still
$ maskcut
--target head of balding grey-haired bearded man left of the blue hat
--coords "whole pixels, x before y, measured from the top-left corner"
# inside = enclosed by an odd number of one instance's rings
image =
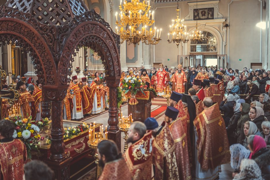
[[[130,125],[130,130],[128,131],[127,143],[135,143],[140,140],[146,133],[146,126],[140,121],[135,121]]]

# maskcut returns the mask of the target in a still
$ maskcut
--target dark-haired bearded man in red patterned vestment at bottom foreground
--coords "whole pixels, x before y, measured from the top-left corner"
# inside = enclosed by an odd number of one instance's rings
[[[103,171],[99,180],[131,180],[126,161],[122,154],[118,152],[115,142],[112,140],[103,140],[97,145],[97,154],[99,166]]]

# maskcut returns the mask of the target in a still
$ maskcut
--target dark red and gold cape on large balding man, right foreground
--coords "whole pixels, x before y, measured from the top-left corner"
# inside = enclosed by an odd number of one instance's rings
[[[218,165],[230,162],[226,127],[218,104],[204,109],[193,123],[198,133],[198,161],[202,169],[215,169]]]

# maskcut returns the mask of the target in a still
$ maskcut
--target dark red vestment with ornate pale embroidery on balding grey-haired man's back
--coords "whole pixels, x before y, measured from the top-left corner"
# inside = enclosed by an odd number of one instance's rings
[[[150,131],[126,150],[124,158],[134,180],[151,179],[152,144],[152,131]]]

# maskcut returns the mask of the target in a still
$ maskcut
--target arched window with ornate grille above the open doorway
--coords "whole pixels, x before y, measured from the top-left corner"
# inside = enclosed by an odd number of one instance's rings
[[[208,31],[202,31],[202,40],[190,42],[190,52],[217,52],[217,38]]]

